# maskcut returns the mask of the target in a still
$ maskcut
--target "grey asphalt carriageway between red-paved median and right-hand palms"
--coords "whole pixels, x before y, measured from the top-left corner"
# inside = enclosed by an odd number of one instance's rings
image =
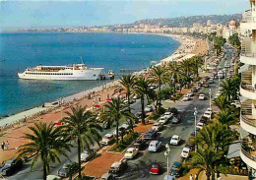
[[[215,90],[216,86],[213,84],[212,88]],[[207,93],[208,91],[209,89],[203,89],[199,93]],[[181,160],[181,150],[184,148],[185,142],[187,142],[191,132],[194,131],[194,108],[198,108],[197,121],[199,121],[199,117],[201,117],[205,110],[209,107],[209,100],[198,100],[198,96],[195,95],[192,101],[180,102],[175,104],[175,107],[181,112],[181,115],[183,114],[181,124],[164,125],[164,130],[160,132],[160,136],[158,138],[162,142],[160,151],[140,151],[140,154],[135,158],[135,160],[128,161],[129,167],[121,179],[163,179],[164,173],[166,172],[166,157],[163,154],[163,151],[165,150],[164,145],[170,142],[170,139],[174,134],[179,135],[182,142],[180,146],[171,146],[169,165],[171,165],[174,161]],[[160,162],[160,164],[162,164],[162,172],[158,176],[151,175],[149,172],[153,162]]]

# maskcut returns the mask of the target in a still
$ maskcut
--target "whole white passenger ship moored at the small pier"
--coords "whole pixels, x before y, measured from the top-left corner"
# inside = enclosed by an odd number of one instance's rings
[[[18,73],[21,79],[31,80],[96,80],[103,68],[88,68],[84,63],[71,66],[42,66],[27,68]]]

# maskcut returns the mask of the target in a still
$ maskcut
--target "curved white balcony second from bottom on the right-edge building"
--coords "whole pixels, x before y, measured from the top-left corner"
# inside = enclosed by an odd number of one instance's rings
[[[240,126],[246,132],[256,135],[256,100],[241,103]]]

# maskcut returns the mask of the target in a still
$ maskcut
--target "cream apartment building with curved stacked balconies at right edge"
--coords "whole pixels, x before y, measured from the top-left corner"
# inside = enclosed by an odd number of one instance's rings
[[[256,9],[255,0],[249,0],[251,10],[243,14],[241,31],[241,159],[247,164],[249,179],[256,179]],[[246,16],[245,16],[246,14]]]

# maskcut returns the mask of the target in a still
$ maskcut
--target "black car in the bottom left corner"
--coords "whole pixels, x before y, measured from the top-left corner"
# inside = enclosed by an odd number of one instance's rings
[[[10,176],[22,167],[23,160],[21,158],[11,158],[10,160],[7,160],[0,169],[0,175]]]

